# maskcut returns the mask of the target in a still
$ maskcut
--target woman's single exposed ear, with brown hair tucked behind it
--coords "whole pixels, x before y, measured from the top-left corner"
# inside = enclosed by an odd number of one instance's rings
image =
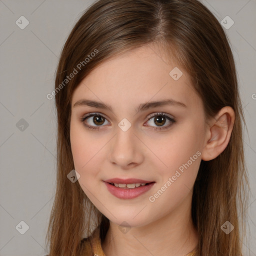
[[[230,106],[222,107],[207,125],[205,144],[202,149],[202,160],[212,160],[226,148],[231,136],[233,124],[233,108]]]

